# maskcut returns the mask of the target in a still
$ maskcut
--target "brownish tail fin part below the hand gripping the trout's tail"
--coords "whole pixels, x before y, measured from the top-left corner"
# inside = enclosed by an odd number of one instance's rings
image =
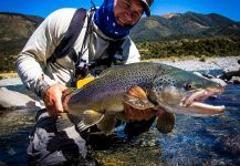
[[[69,118],[69,113],[60,113],[60,116],[56,118],[56,131],[61,132],[71,126],[74,126],[74,124]]]

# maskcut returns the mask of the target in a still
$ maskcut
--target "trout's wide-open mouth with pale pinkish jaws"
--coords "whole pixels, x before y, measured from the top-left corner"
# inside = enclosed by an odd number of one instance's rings
[[[208,116],[223,113],[226,107],[225,105],[210,105],[205,103],[205,101],[211,96],[217,96],[222,93],[223,89],[207,89],[207,90],[195,90],[190,92],[186,97],[184,97],[180,102],[180,106],[189,107],[189,115],[200,115]]]

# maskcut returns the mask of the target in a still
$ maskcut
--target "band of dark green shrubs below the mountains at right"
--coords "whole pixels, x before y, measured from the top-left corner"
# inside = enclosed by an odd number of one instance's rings
[[[138,43],[143,59],[159,59],[194,55],[205,61],[209,56],[229,56],[240,54],[240,38],[211,38],[170,40]]]

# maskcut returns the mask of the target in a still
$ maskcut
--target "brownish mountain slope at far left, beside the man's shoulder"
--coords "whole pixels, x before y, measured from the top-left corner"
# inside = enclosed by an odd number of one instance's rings
[[[0,55],[18,54],[43,18],[0,12]]]

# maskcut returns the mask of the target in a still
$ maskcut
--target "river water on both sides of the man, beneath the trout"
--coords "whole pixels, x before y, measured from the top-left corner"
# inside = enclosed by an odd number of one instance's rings
[[[240,86],[227,85],[219,97],[208,100],[227,111],[211,117],[177,115],[174,132],[159,134],[155,125],[127,139],[119,126],[95,148],[101,165],[240,165]],[[35,111],[0,112],[0,166],[27,165],[28,135]]]

